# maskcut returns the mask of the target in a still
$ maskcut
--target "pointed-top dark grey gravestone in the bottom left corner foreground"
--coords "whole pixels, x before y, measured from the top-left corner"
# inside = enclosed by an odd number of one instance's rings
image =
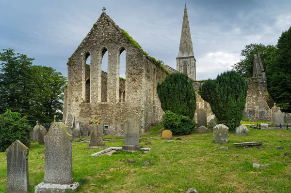
[[[27,148],[16,140],[5,151],[7,159],[6,193],[28,193],[28,154]]]

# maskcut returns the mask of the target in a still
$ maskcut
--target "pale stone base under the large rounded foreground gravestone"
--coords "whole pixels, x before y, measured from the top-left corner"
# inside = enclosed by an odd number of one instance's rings
[[[41,182],[34,188],[35,193],[72,193],[76,192],[80,184],[48,184]]]

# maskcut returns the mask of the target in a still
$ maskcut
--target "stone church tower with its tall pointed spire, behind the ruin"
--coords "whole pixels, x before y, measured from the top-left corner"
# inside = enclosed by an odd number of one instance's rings
[[[180,48],[176,59],[177,71],[187,74],[189,78],[196,80],[196,59],[194,58],[186,4],[181,31]]]

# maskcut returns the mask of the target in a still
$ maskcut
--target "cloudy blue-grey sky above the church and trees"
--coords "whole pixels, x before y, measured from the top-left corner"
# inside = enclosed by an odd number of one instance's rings
[[[231,69],[245,45],[275,45],[291,26],[291,0],[0,0],[0,49],[67,76],[67,59],[106,7],[146,52],[176,69],[185,2],[198,80]]]

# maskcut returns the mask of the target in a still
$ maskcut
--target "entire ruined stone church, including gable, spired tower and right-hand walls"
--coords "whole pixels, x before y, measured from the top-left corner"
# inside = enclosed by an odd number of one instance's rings
[[[194,57],[190,26],[185,5],[177,70],[157,63],[147,56],[141,47],[133,46],[124,30],[120,29],[105,13],[98,18],[93,28],[77,47],[67,62],[68,84],[64,91],[64,116],[68,130],[75,127],[89,128],[89,118],[96,115],[104,125],[104,133],[122,135],[127,119],[139,121],[140,133],[162,122],[163,110],[156,86],[170,73],[184,73],[191,78],[196,92],[196,110],[204,108],[212,115],[210,105],[197,93],[203,81],[196,80],[196,59]],[[102,71],[102,60],[108,53],[108,71]],[[120,77],[121,53],[126,55],[126,77]],[[90,56],[90,64],[86,61]],[[257,61],[258,60],[258,61]],[[247,79],[249,91],[245,105],[245,116],[269,118],[266,78],[257,57],[254,78]],[[258,65],[257,65],[258,63]],[[254,71],[255,72],[255,71]],[[251,85],[251,86],[250,86]],[[273,104],[271,105],[271,107]],[[196,119],[195,114],[195,119]]]

